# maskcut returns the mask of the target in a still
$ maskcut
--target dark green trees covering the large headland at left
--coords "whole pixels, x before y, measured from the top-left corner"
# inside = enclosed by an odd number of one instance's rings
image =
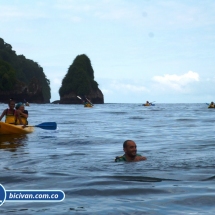
[[[42,86],[44,101],[48,102],[51,98],[50,81],[43,68],[33,60],[26,59],[24,55],[16,55],[12,46],[0,38],[0,90],[13,90],[16,80],[28,85],[34,78]]]

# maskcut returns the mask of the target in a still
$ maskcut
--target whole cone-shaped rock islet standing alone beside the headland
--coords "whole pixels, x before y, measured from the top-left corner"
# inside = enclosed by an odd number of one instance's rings
[[[94,104],[103,104],[104,96],[94,80],[94,71],[90,59],[78,55],[69,67],[59,89],[60,104],[80,104],[80,99],[87,97]]]

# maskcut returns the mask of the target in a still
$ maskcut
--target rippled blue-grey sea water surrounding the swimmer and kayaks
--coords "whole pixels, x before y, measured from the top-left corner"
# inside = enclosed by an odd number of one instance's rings
[[[0,214],[215,214],[215,109],[206,104],[30,104],[24,136],[0,136],[6,190],[63,190],[62,202],[5,202]],[[6,104],[0,105],[3,110]],[[132,139],[147,161],[115,163]]]

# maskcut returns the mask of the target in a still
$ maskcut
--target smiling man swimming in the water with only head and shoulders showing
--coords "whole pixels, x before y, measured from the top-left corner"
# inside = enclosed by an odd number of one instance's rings
[[[117,156],[115,158],[115,162],[120,161],[128,161],[128,162],[135,162],[135,161],[143,161],[147,158],[137,154],[137,146],[133,140],[126,140],[123,143],[123,150],[125,154],[123,156]]]

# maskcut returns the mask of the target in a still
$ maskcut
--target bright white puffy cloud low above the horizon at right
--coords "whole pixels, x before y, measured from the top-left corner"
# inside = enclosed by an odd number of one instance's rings
[[[154,76],[152,80],[157,82],[163,90],[172,89],[179,92],[186,92],[189,84],[199,81],[199,74],[192,71],[184,75],[165,74],[164,76]]]

